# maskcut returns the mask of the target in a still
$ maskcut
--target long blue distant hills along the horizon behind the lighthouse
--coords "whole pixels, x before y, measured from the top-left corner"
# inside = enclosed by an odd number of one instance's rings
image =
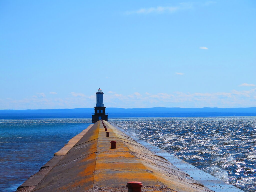
[[[93,108],[0,110],[0,119],[91,118]],[[109,118],[256,116],[252,108],[106,108]]]

